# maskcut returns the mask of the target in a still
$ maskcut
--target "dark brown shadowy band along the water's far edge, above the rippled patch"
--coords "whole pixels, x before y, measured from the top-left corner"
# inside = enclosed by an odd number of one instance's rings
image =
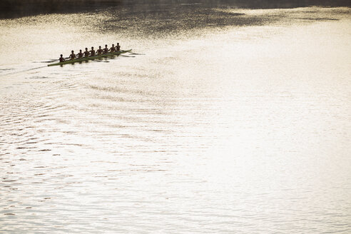
[[[0,19],[36,14],[95,11],[111,6],[133,9],[168,8],[196,4],[198,7],[250,9],[296,8],[303,6],[351,6],[350,0],[0,0]]]

